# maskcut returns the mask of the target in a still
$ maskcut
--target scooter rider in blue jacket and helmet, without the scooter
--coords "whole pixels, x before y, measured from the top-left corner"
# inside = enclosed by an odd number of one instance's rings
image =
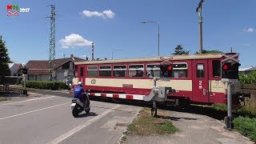
[[[88,106],[89,101],[87,98],[87,95],[85,94],[85,90],[82,88],[83,83],[82,82],[78,82],[78,86],[74,87],[74,98],[79,98],[80,101],[86,106]]]

